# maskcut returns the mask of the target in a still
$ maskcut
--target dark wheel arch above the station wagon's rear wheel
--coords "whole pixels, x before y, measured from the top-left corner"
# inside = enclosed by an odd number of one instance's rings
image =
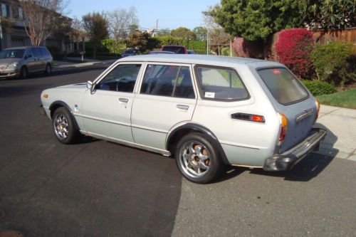
[[[226,158],[224,149],[221,147],[219,139],[216,137],[216,135],[214,135],[214,132],[211,132],[211,130],[209,130],[207,127],[192,122],[176,127],[174,128],[174,130],[169,132],[169,135],[166,140],[166,149],[172,154],[174,154],[175,145],[177,144],[179,139],[184,135],[187,135],[192,132],[201,132],[202,134],[207,135],[211,139],[213,139],[214,142],[216,142],[216,148],[219,154],[221,155],[221,159],[223,160],[224,164],[230,164],[228,159]]]

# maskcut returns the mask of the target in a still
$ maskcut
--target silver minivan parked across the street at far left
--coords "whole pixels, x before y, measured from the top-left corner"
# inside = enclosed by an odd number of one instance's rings
[[[0,52],[0,78],[27,78],[30,73],[51,73],[53,58],[45,47],[6,48]]]

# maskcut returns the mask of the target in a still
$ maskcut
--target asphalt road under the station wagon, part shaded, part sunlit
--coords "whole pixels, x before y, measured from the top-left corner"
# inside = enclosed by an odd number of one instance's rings
[[[174,160],[56,141],[41,90],[103,68],[0,80],[0,233],[24,236],[356,236],[356,162],[310,154],[290,172],[226,169],[192,184]]]

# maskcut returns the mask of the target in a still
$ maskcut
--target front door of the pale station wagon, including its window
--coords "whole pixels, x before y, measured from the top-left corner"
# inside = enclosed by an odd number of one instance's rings
[[[80,109],[83,130],[94,137],[133,142],[130,115],[141,67],[140,63],[120,63],[85,93]]]

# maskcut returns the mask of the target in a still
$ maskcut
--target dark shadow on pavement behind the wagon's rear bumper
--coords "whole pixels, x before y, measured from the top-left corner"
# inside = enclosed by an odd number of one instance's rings
[[[328,135],[324,141],[320,143],[320,149],[311,152],[290,171],[286,172],[266,172],[263,169],[252,169],[251,174],[261,174],[272,177],[284,177],[288,181],[309,181],[318,176],[323,170],[328,167],[330,162],[333,161],[338,149],[333,148],[337,141],[337,136],[333,134],[328,127],[317,123],[315,127],[327,130]]]

